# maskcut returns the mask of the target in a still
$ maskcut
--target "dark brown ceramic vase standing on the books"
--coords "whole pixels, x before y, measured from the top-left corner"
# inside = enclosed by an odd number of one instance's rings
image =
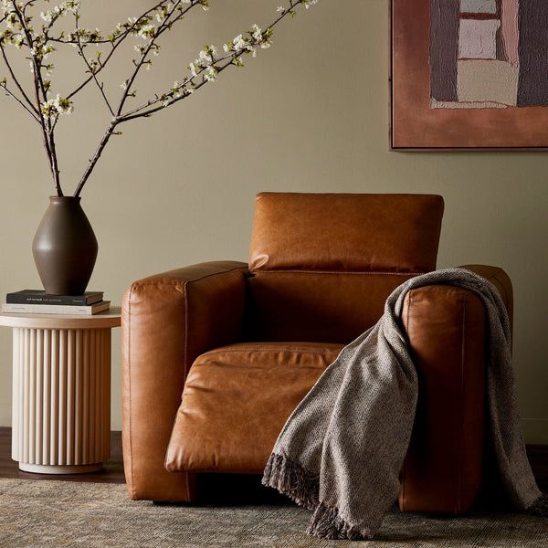
[[[50,196],[32,242],[32,254],[46,292],[82,295],[97,251],[97,238],[79,197]]]

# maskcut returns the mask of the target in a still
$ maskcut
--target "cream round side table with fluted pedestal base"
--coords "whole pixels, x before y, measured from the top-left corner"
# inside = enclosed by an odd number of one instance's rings
[[[0,314],[13,329],[12,458],[41,474],[98,470],[111,454],[111,329],[94,316]]]

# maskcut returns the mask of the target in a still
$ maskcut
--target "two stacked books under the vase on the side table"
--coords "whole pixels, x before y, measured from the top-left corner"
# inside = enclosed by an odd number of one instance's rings
[[[2,311],[19,314],[66,314],[90,316],[108,311],[110,300],[103,300],[102,291],[83,295],[49,295],[43,290],[22,290],[8,293]]]

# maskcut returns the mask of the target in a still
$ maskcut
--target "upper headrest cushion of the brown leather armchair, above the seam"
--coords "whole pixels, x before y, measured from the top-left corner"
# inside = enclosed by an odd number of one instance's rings
[[[428,272],[442,215],[437,195],[259,194],[249,269]]]

